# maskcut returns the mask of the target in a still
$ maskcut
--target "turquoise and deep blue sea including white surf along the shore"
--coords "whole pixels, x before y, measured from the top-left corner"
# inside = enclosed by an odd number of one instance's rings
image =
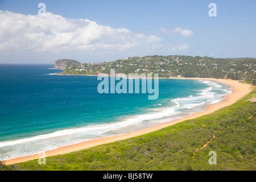
[[[62,72],[53,66],[0,65],[0,160],[156,126],[232,93],[215,81],[159,79],[157,100],[100,94],[96,76],[52,75]]]

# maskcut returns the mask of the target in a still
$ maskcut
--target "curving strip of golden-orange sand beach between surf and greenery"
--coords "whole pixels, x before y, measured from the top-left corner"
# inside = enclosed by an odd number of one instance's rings
[[[167,127],[167,126],[175,125],[176,123],[179,123],[179,122],[182,122],[182,121],[185,121],[188,119],[201,117],[202,115],[212,113],[213,111],[221,109],[222,107],[226,107],[226,106],[234,104],[236,101],[240,100],[243,96],[248,94],[253,88],[249,84],[243,84],[243,83],[235,81],[235,80],[224,80],[224,79],[216,79],[216,78],[183,78],[183,77],[181,77],[181,78],[174,77],[174,79],[196,79],[196,80],[220,81],[220,82],[223,82],[230,86],[233,86],[233,93],[229,94],[228,97],[224,101],[222,101],[218,104],[207,106],[207,110],[201,111],[199,113],[193,113],[193,114],[189,115],[188,117],[184,117],[184,118],[177,119],[175,121],[163,123],[162,125],[149,127],[148,129],[139,130],[139,131],[136,131],[136,132],[130,133],[130,134],[117,135],[114,137],[107,137],[107,138],[100,138],[100,139],[93,139],[93,140],[89,140],[86,142],[73,144],[70,146],[60,147],[55,150],[46,151],[45,152],[46,157],[60,155],[60,154],[67,154],[69,152],[79,151],[79,150],[82,150],[85,148],[98,146],[100,144],[105,144],[105,143],[115,142],[117,140],[123,140],[123,139],[132,138],[132,137],[137,137],[139,135],[143,135],[143,134],[151,133],[156,130],[163,129],[164,127]],[[38,159],[38,158],[40,158],[40,156],[42,156],[42,155],[36,154],[36,155],[23,156],[20,158],[6,160],[5,164],[7,165],[7,164],[26,162],[28,160]]]

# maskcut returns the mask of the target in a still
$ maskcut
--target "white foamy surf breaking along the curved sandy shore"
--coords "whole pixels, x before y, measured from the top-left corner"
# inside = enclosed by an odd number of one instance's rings
[[[208,87],[197,90],[197,93],[189,94],[186,97],[179,97],[174,100],[167,98],[166,101],[152,105],[145,114],[121,118],[119,122],[65,129],[35,137],[0,142],[0,160],[37,154],[85,140],[110,137],[156,126],[203,111],[207,105],[216,104],[223,100],[227,94],[232,93],[230,88],[224,88],[225,84],[208,80],[199,80],[199,82],[208,85]]]

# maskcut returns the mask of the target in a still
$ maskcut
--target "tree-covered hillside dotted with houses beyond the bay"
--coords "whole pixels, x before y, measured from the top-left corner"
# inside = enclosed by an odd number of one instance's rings
[[[57,60],[59,61],[59,60]],[[256,85],[256,59],[221,59],[200,56],[128,57],[102,63],[65,62],[63,75],[98,75],[115,73],[158,73],[159,77],[230,78]],[[56,63],[60,64],[60,63]],[[56,67],[55,64],[55,67]]]

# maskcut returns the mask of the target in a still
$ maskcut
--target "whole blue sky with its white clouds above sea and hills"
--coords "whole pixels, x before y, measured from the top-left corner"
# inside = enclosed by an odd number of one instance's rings
[[[47,19],[38,17],[41,2]],[[208,15],[212,2],[216,17]],[[144,55],[256,57],[255,6],[253,0],[1,0],[0,63],[61,58],[86,63]]]

